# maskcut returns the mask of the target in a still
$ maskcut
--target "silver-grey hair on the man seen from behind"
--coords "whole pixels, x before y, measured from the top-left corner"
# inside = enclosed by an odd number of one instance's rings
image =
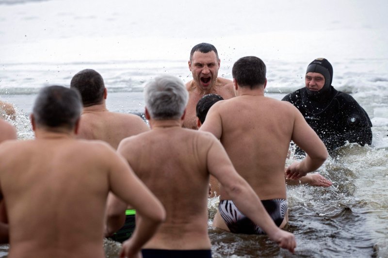
[[[180,119],[188,99],[185,85],[175,76],[158,76],[144,88],[146,108],[155,120]]]

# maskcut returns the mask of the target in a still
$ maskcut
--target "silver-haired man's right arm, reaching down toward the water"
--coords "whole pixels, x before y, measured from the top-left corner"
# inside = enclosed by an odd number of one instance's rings
[[[210,174],[219,180],[223,189],[245,216],[259,225],[280,247],[294,252],[296,247],[294,235],[275,225],[257,194],[234,169],[221,143],[214,137],[209,140],[212,142],[207,158]]]

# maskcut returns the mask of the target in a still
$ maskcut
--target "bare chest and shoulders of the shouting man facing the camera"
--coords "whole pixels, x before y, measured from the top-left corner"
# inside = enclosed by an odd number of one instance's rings
[[[236,96],[233,91],[233,81],[224,78],[217,78],[215,86],[210,91],[201,91],[195,85],[194,81],[187,82],[186,88],[189,92],[189,102],[186,106],[186,115],[183,121],[183,127],[189,129],[197,129],[195,107],[203,96],[211,93],[218,94],[224,99]]]

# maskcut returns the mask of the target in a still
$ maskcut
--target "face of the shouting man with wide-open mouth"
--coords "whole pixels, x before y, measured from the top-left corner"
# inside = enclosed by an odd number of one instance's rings
[[[189,69],[196,85],[201,90],[210,90],[217,81],[220,60],[214,51],[207,53],[195,51],[192,60],[189,61]]]

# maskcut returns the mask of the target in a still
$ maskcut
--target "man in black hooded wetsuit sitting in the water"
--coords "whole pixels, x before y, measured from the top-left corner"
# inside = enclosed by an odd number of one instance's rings
[[[346,141],[371,145],[372,123],[368,114],[352,96],[334,89],[332,81],[333,67],[326,59],[317,58],[307,66],[306,87],[282,100],[291,102],[303,114],[330,155]],[[299,148],[296,154],[301,154]]]

